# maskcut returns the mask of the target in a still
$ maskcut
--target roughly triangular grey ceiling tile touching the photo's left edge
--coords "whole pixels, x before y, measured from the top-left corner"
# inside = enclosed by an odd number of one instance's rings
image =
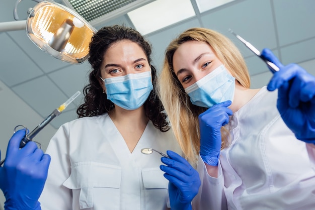
[[[40,68],[10,39],[7,33],[0,34],[0,79],[8,86],[16,85],[43,74]]]

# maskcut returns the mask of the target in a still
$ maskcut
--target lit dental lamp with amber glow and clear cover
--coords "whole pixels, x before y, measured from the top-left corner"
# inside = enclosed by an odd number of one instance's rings
[[[18,20],[17,6],[14,18]],[[26,20],[28,37],[51,56],[72,64],[89,57],[89,44],[96,29],[76,12],[52,1],[38,2],[29,9]]]

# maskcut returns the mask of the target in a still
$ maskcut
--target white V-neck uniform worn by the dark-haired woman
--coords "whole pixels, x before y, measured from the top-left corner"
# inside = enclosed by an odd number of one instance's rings
[[[142,148],[182,154],[172,131],[151,121],[132,153],[107,114],[62,125],[46,150],[51,163],[42,209],[167,209],[162,156]]]

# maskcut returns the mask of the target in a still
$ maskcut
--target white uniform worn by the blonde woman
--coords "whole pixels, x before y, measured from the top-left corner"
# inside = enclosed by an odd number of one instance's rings
[[[276,100],[277,91],[264,87],[233,114],[218,178],[208,175],[199,156],[195,209],[315,209],[315,149],[295,138]]]

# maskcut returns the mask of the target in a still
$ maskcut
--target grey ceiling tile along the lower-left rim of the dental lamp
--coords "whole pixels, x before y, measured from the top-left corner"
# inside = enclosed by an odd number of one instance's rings
[[[7,32],[15,42],[21,46],[22,49],[28,53],[30,58],[34,60],[37,65],[46,73],[53,70],[69,66],[71,64],[61,61],[55,57],[52,57],[48,53],[45,53],[36,44],[29,39],[25,31],[11,31]],[[49,65],[47,65],[49,63]]]

